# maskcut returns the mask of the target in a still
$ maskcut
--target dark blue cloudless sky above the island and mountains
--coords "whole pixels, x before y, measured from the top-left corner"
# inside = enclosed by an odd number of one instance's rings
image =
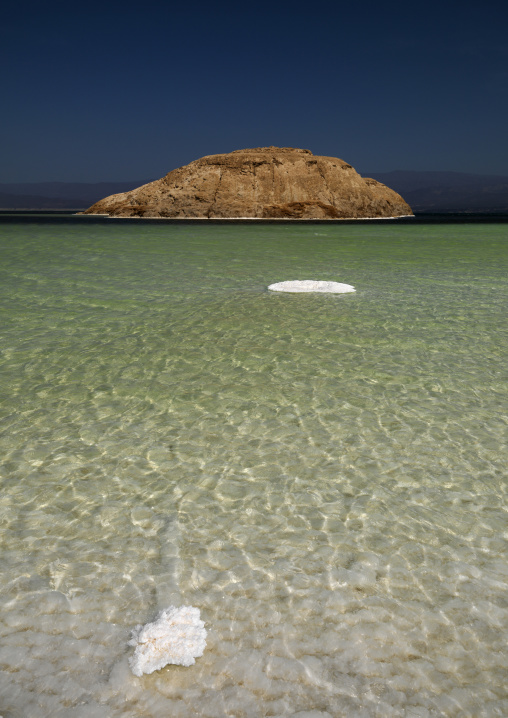
[[[507,26],[468,0],[12,3],[0,182],[149,180],[262,145],[506,175]]]

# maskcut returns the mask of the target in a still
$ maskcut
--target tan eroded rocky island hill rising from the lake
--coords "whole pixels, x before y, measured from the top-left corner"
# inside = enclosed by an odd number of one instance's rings
[[[258,147],[209,155],[83,214],[113,217],[348,219],[412,215],[402,197],[336,157]]]

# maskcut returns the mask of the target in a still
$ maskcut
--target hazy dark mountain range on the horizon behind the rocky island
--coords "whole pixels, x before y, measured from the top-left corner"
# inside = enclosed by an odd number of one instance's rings
[[[508,176],[400,170],[361,174],[394,189],[417,213],[508,212]],[[150,181],[0,183],[0,209],[82,210]]]

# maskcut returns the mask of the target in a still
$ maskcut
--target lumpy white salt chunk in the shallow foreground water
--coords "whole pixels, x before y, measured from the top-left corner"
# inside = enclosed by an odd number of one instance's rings
[[[135,676],[158,671],[168,663],[192,666],[206,646],[205,624],[199,608],[169,606],[153,623],[136,626],[129,646],[135,646],[129,665]]]

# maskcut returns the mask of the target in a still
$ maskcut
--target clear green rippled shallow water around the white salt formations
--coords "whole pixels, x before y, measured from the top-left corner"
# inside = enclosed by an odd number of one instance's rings
[[[508,225],[0,237],[3,718],[508,715]]]

